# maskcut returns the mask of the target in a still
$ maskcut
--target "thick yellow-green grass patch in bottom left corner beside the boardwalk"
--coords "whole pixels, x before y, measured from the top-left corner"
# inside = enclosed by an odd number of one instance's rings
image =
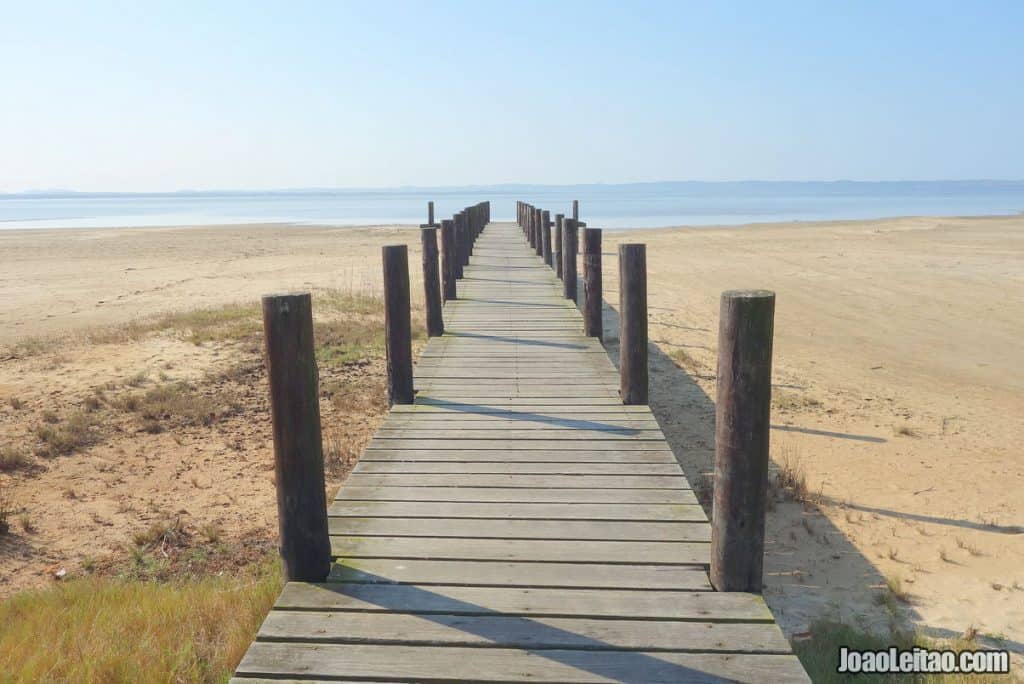
[[[267,561],[243,576],[85,578],[18,594],[0,604],[0,679],[223,682],[280,588]]]

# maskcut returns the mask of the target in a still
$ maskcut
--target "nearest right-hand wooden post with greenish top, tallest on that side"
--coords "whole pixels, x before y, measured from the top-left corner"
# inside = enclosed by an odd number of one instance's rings
[[[774,317],[773,292],[722,293],[710,573],[721,592],[763,586]]]

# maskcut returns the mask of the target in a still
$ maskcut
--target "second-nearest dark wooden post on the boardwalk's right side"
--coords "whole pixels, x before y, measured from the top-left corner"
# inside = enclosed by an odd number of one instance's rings
[[[623,403],[647,403],[647,251],[618,246],[618,375]]]

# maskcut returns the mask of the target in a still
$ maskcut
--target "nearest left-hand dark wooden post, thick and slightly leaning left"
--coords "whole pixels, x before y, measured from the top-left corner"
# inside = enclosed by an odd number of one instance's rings
[[[281,560],[289,582],[324,582],[331,539],[308,293],[263,297]]]

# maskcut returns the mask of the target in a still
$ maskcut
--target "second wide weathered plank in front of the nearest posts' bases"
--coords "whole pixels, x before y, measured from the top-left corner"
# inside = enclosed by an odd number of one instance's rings
[[[790,653],[771,624],[408,615],[273,610],[259,629],[261,641],[391,643],[485,648],[666,650],[676,652]]]

